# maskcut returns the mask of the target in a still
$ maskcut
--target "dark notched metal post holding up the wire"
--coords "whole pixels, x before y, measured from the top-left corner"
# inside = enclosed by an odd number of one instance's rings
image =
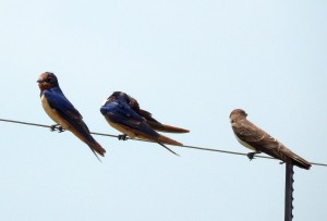
[[[284,221],[293,220],[293,164],[286,163],[286,183],[284,183]]]

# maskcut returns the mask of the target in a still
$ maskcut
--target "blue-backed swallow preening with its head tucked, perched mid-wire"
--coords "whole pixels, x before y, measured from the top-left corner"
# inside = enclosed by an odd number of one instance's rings
[[[121,91],[113,93],[101,106],[100,112],[113,128],[123,133],[123,135],[119,135],[119,139],[126,139],[126,136],[129,136],[152,140],[174,155],[177,154],[166,147],[165,144],[174,146],[182,146],[183,144],[156,131],[168,133],[190,132],[184,128],[161,124],[148,111],[140,109],[140,105],[134,98]]]

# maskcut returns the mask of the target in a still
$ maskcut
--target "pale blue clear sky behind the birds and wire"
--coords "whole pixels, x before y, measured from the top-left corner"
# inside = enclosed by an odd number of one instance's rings
[[[53,72],[93,132],[116,90],[184,145],[247,152],[235,108],[308,161],[327,163],[326,1],[0,2],[1,119],[51,125],[36,81]],[[0,122],[0,219],[276,221],[278,161],[95,136],[100,163],[70,132]],[[294,220],[327,219],[327,168],[294,169]]]

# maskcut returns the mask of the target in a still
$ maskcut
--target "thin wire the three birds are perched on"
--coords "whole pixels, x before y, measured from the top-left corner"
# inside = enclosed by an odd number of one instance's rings
[[[24,124],[24,125],[31,125],[31,126],[39,126],[39,127],[47,127],[50,130],[53,130],[52,126],[50,125],[45,125],[45,124],[38,124],[38,123],[28,123],[28,122],[23,122],[23,121],[14,121],[14,120],[8,120],[8,119],[0,119],[2,122],[8,122],[8,123],[16,123],[16,124]],[[97,133],[97,132],[90,132],[90,134],[98,135],[98,136],[109,136],[109,137],[117,137],[118,135],[112,135],[112,134],[104,134],[104,133]],[[152,140],[146,140],[146,139],[140,139],[140,138],[132,138],[129,137],[129,139],[133,140],[138,140],[138,142],[148,142],[148,143],[155,143]],[[196,146],[190,146],[190,145],[183,145],[179,147],[184,147],[184,148],[190,148],[190,149],[197,149],[197,150],[205,150],[205,151],[213,151],[213,152],[221,152],[221,154],[228,154],[228,155],[240,155],[240,156],[247,156],[247,154],[244,152],[235,152],[235,151],[228,151],[228,150],[221,150],[221,149],[211,149],[211,148],[204,148],[204,147],[196,147]],[[270,159],[270,160],[278,160],[272,157],[266,157],[266,156],[255,156],[255,158],[264,158],[264,159]],[[326,163],[318,163],[318,162],[310,162],[313,165],[322,165],[322,167],[327,167]]]

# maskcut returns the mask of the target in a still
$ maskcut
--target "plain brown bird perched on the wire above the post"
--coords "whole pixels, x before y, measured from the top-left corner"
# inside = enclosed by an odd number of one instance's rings
[[[265,152],[283,162],[295,164],[308,170],[311,163],[299,157],[283,144],[246,120],[247,114],[242,109],[235,109],[230,113],[230,123],[238,140],[245,147],[254,150],[247,157],[253,159],[255,154]]]

